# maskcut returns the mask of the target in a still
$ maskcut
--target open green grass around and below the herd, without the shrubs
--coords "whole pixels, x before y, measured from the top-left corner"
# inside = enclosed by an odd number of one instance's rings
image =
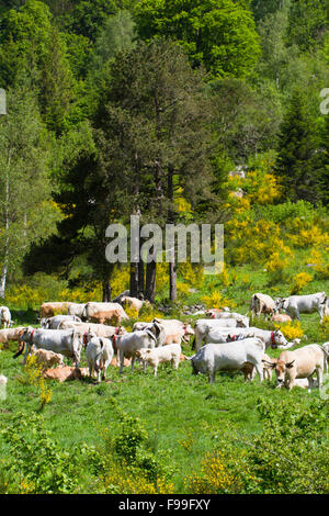
[[[288,284],[277,284],[269,288],[266,273],[262,270],[253,271],[250,267],[237,269],[238,276],[235,284],[225,290],[225,296],[234,299],[236,311],[246,314],[249,300],[253,292],[260,291],[274,295],[288,293]],[[241,288],[240,279],[250,274],[249,288]],[[183,304],[200,302],[202,296],[209,293],[208,284],[214,278],[206,278],[205,283],[195,294],[184,300]],[[311,282],[307,292],[328,289],[328,281]],[[275,294],[276,292],[276,294]],[[18,325],[34,325],[36,313],[12,310],[13,318]],[[179,305],[172,309],[172,314],[183,317]],[[262,326],[271,327],[271,323],[262,321]],[[257,325],[257,324],[256,324]],[[324,343],[329,335],[321,330],[318,314],[302,315],[302,328],[307,340],[300,345]],[[12,415],[20,411],[26,413],[38,412],[41,402],[36,386],[22,384],[20,375],[23,371],[22,357],[13,359],[16,345],[12,343],[9,349],[0,351],[0,373],[9,379],[7,399],[0,401],[0,425],[10,422]],[[183,352],[193,355],[191,347],[184,345]],[[269,350],[269,355],[277,357],[280,350]],[[86,367],[84,355],[82,366]],[[118,368],[110,367],[107,383],[95,385],[89,380],[58,383],[47,381],[50,386],[52,400],[43,410],[47,428],[58,439],[60,445],[70,449],[77,442],[104,446],[104,429],[114,437],[120,429],[118,418],[110,402],[115,397],[120,407],[126,413],[139,416],[148,433],[148,446],[152,450],[163,450],[174,467],[173,476],[175,493],[184,492],[184,478],[192,471],[200,469],[201,461],[207,452],[216,446],[216,436],[222,435],[224,428],[245,431],[254,435],[261,431],[262,425],[257,411],[258,399],[265,397],[272,401],[282,399],[311,405],[319,397],[318,391],[310,394],[307,390],[295,388],[292,392],[275,389],[275,379],[272,382],[259,382],[258,377],[252,383],[243,381],[239,373],[217,373],[213,385],[208,384],[206,377],[192,375],[189,361],[180,363],[179,370],[173,371],[170,366],[162,366],[158,377],[154,378],[150,368],[144,373],[137,364],[135,371],[126,368],[122,375]],[[185,441],[185,445],[183,444]],[[8,446],[0,438],[0,456],[7,457]]]

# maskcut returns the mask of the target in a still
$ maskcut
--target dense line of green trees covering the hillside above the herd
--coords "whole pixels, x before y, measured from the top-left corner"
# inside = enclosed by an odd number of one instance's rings
[[[286,200],[328,204],[328,10],[0,1],[0,295],[23,266],[101,281],[110,299],[109,224],[226,220],[228,171],[262,153]],[[131,269],[132,292],[152,301],[156,263]],[[175,274],[173,260],[171,300]]]

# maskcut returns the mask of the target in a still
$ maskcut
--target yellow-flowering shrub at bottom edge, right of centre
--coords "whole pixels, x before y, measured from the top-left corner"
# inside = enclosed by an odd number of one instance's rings
[[[231,493],[236,479],[225,467],[220,451],[209,453],[202,461],[201,472],[185,479],[188,492],[193,494]]]

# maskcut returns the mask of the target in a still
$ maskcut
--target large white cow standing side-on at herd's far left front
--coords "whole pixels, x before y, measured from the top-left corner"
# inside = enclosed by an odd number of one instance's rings
[[[26,363],[32,345],[38,349],[43,348],[71,358],[76,367],[80,364],[82,335],[76,329],[35,329],[29,326],[20,335],[20,349],[13,358],[22,355],[26,347],[24,355],[24,363]]]

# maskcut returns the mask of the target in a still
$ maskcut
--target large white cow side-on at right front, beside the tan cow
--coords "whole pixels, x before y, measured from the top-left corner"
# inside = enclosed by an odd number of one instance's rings
[[[254,366],[260,381],[263,380],[262,356],[265,345],[258,338],[248,338],[228,344],[206,344],[193,357],[192,374],[208,375],[209,383],[214,383],[217,371],[242,370],[246,363]]]

